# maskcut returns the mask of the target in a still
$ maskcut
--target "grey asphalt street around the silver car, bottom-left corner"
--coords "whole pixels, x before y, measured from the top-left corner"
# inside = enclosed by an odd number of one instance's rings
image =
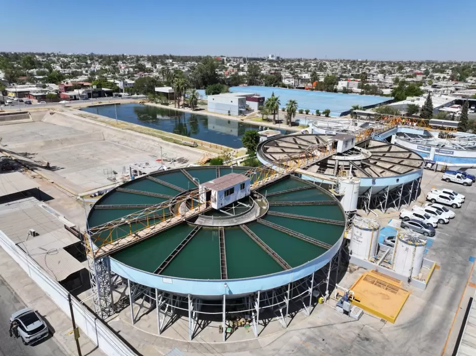
[[[63,356],[67,355],[53,339],[35,346],[25,346],[21,339],[11,338],[9,319],[14,311],[24,308],[5,280],[0,277],[0,356]]]

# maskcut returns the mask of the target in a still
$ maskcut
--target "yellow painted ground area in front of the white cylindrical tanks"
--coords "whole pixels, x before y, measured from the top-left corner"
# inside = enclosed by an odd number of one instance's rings
[[[355,281],[352,304],[394,323],[410,293],[401,288],[402,282],[377,271],[364,273]]]

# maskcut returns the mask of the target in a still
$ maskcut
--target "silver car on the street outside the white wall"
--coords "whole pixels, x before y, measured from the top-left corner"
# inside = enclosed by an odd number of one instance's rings
[[[46,322],[31,308],[24,308],[13,313],[10,323],[18,323],[18,335],[25,345],[39,341],[50,334]]]

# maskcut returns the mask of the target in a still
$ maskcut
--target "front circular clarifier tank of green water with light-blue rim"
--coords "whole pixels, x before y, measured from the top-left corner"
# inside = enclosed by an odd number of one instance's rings
[[[154,209],[197,185],[251,168],[207,166],[152,173],[117,187],[92,207],[93,242],[116,240],[176,214]],[[259,175],[251,175],[251,184]],[[148,212],[150,211],[150,212]],[[101,233],[94,228],[104,227]],[[111,271],[135,283],[209,299],[244,296],[311,275],[337,253],[345,215],[328,192],[284,176],[220,209],[161,230],[109,255]]]

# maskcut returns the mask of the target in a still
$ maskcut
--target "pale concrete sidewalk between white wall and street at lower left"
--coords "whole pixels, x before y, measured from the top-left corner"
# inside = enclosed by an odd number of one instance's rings
[[[68,335],[72,330],[71,320],[2,248],[0,248],[0,275],[26,305],[38,310],[38,313],[45,317],[55,331],[53,335],[55,342],[71,356],[77,355],[74,336],[72,333]],[[104,355],[83,331],[80,331],[80,335],[83,356]]]

